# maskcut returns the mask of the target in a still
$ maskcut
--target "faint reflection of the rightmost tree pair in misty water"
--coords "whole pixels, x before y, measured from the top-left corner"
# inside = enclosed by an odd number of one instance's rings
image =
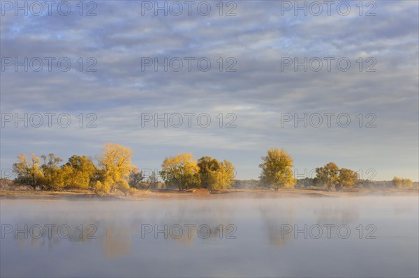
[[[317,224],[351,224],[359,218],[359,213],[356,208],[320,208],[313,210],[317,218]]]

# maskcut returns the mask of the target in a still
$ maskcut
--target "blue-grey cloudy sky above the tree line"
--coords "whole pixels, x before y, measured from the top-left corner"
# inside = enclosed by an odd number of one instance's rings
[[[419,180],[418,1],[0,3],[2,176],[113,142],[145,171],[192,153],[258,178],[277,147],[297,178]]]

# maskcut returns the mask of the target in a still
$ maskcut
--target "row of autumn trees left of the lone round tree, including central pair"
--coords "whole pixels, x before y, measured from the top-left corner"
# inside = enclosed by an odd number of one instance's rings
[[[132,154],[130,148],[108,143],[96,157],[96,164],[90,157],[73,155],[61,166],[61,158],[53,153],[41,157],[33,153],[29,159],[21,154],[13,171],[18,184],[34,190],[93,189],[109,193],[118,189],[127,193],[130,187],[144,189],[159,183],[156,171],[144,181],[142,172],[131,164]],[[219,162],[206,156],[195,162],[189,153],[167,157],[161,167],[159,173],[166,185],[179,190],[203,187],[213,193],[229,188],[235,178],[235,169],[228,160]]]

